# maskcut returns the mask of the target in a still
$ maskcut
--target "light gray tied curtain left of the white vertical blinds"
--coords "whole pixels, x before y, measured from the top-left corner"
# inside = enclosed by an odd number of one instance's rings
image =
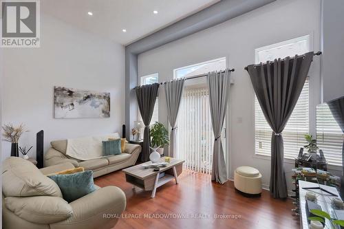
[[[175,139],[177,135],[176,121],[178,117],[178,111],[180,107],[180,100],[182,100],[182,95],[184,91],[185,79],[172,80],[164,84],[164,89],[166,93],[166,104],[167,104],[167,117],[171,125],[171,135],[170,135],[170,148],[169,156],[175,157]]]

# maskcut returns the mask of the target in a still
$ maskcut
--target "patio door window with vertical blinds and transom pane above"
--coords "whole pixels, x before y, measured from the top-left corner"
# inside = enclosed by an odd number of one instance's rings
[[[226,68],[226,58],[199,63],[174,70],[175,78],[188,78]],[[177,157],[185,160],[184,168],[211,173],[214,135],[206,78],[187,80],[178,112]],[[225,126],[225,124],[224,124]],[[224,149],[225,134],[222,134]]]

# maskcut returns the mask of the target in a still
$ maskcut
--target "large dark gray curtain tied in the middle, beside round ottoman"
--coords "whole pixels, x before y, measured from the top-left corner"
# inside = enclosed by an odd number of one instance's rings
[[[283,168],[282,131],[292,114],[307,78],[313,52],[294,58],[279,58],[260,65],[248,65],[248,74],[259,105],[273,133],[271,137],[270,192],[274,198],[286,198],[287,184]]]

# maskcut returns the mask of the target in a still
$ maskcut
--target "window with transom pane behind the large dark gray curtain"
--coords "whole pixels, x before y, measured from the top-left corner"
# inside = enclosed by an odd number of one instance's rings
[[[255,50],[255,62],[273,61],[275,58],[294,56],[309,52],[310,36],[301,36],[297,39],[283,41]],[[309,132],[309,87],[307,79],[301,91],[297,105],[283,130],[284,157],[294,159],[306,142],[304,135]],[[257,155],[271,155],[272,129],[264,118],[263,111],[255,96],[255,153]]]

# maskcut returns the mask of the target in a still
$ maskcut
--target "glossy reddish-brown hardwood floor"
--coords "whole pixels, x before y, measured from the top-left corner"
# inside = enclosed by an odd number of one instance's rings
[[[125,182],[122,171],[98,177],[94,182],[101,187],[118,186],[127,196],[125,218],[119,219],[116,229],[300,227],[299,218],[291,215],[290,199],[273,199],[266,190],[261,197],[244,197],[235,190],[233,182],[215,184],[209,175],[193,171],[183,171],[180,184],[175,185],[173,180],[158,188],[153,199],[151,192],[133,190],[131,184]],[[170,213],[184,215],[163,215]],[[237,219],[215,219],[215,214],[237,216]],[[161,219],[165,216],[169,219]]]

